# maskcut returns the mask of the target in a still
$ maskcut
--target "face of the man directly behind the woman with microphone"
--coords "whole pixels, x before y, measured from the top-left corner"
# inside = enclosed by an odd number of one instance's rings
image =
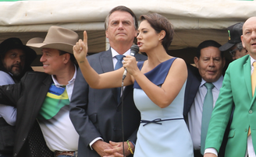
[[[134,37],[137,36],[133,16],[129,12],[112,12],[108,18],[108,28],[105,33],[110,44],[132,44]]]

